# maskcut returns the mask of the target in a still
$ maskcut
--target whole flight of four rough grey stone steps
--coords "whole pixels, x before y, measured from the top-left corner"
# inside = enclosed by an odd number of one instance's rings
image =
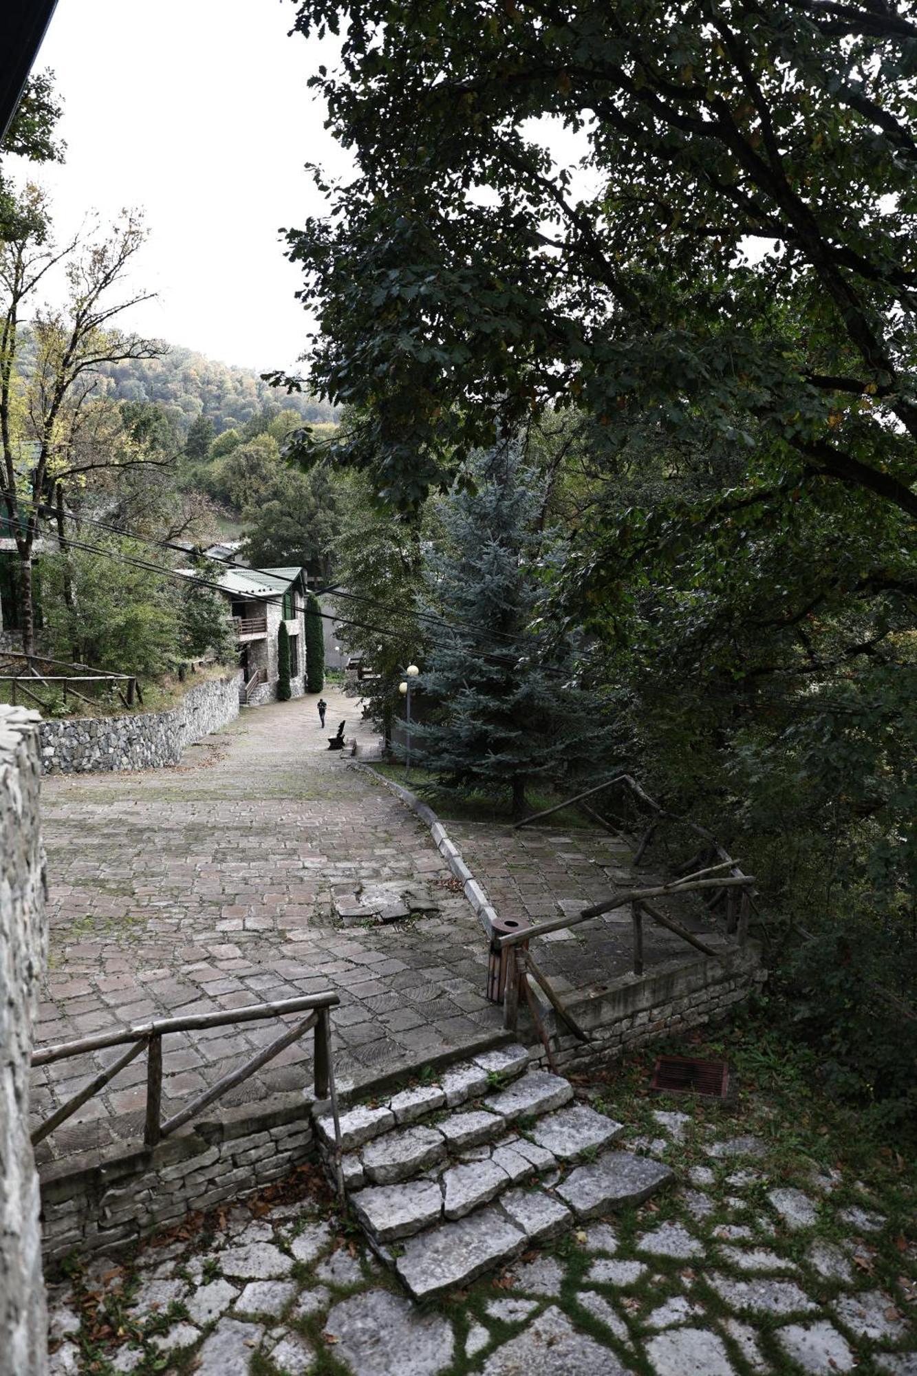
[[[472,1281],[580,1219],[639,1204],[666,1165],[613,1148],[622,1131],[569,1080],[500,1047],[340,1117],[348,1203],[414,1299]],[[315,1116],[333,1179],[335,1126]]]

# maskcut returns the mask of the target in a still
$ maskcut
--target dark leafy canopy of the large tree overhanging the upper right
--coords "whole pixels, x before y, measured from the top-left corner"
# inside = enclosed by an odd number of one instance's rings
[[[764,442],[793,483],[917,515],[909,18],[383,0],[362,21],[300,6],[303,34],[346,34],[313,85],[358,173],[288,244],[313,383],[359,410],[341,453],[380,491],[416,502],[498,428],[578,407],[611,451],[635,422],[739,462]]]

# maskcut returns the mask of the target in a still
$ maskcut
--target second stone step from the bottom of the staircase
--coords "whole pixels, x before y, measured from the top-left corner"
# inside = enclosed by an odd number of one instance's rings
[[[573,1105],[541,1119],[527,1137],[504,1132],[494,1142],[461,1152],[419,1178],[355,1190],[351,1203],[372,1243],[398,1241],[441,1219],[463,1218],[507,1190],[556,1170],[559,1163],[607,1146],[620,1131],[621,1124],[603,1113]],[[542,1141],[537,1139],[538,1134]],[[379,1138],[379,1145],[388,1139]],[[554,1142],[556,1150],[542,1145],[547,1142]],[[370,1143],[365,1150],[375,1146]]]

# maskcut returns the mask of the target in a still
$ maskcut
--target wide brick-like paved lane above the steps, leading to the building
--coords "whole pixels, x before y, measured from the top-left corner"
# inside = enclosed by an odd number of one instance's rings
[[[380,783],[326,749],[352,699],[315,698],[244,711],[189,750],[176,769],[58,775],[43,784],[51,952],[37,1044],[151,1017],[234,1009],[329,985],[336,1066],[366,1080],[395,1065],[481,1042],[500,1026],[483,998],[481,927],[430,832]],[[439,916],[341,927],[335,885],[423,881]],[[248,1024],[164,1044],[164,1112],[277,1036]],[[226,1102],[310,1083],[311,1039],[271,1061]],[[114,1058],[36,1072],[44,1117]],[[143,1058],[37,1149],[39,1160],[136,1141]]]

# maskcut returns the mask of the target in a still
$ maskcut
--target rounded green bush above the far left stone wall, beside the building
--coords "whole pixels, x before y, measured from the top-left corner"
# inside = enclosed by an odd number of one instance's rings
[[[44,633],[55,658],[78,659],[114,673],[157,676],[176,656],[180,600],[173,581],[150,568],[121,563],[146,559],[146,546],[99,535],[99,557],[73,549],[44,556]],[[105,556],[110,557],[105,557]],[[65,600],[65,577],[73,610]]]

